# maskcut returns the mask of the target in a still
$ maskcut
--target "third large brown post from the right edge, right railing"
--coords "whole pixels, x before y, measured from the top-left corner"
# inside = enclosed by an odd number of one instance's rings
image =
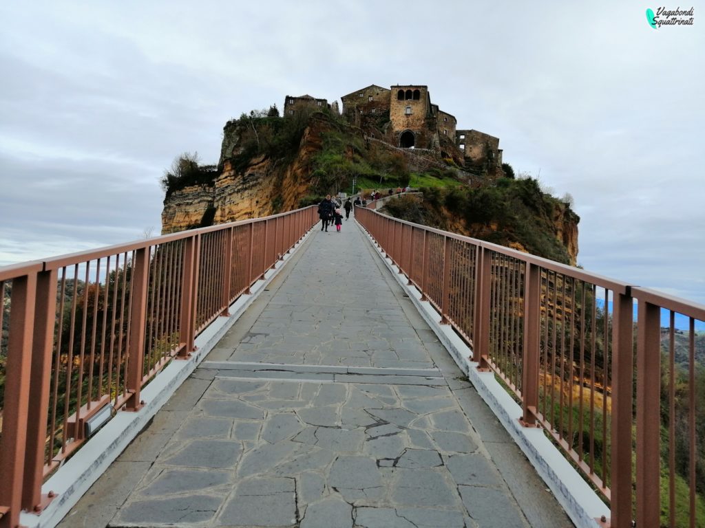
[[[526,263],[524,295],[524,346],[522,417],[525,427],[536,426],[539,406],[539,334],[541,330],[541,268]]]

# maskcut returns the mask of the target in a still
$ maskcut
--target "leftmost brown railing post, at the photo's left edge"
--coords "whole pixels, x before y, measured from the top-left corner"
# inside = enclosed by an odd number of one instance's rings
[[[3,435],[0,437],[0,511],[6,510],[0,517],[1,528],[16,528],[20,523],[36,291],[36,272],[12,279]]]

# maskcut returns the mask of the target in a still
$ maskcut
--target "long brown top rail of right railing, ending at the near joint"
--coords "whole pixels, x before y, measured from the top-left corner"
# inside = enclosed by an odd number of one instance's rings
[[[622,282],[617,279],[612,279],[611,277],[603,277],[602,275],[596,275],[595,273],[587,272],[581,270],[580,268],[575,268],[567,264],[561,264],[554,260],[549,260],[548,258],[539,257],[532,255],[531,253],[524,253],[523,251],[518,251],[516,249],[507,248],[505,246],[499,246],[498,244],[492,244],[491,242],[482,241],[479,239],[473,239],[471,237],[465,237],[465,235],[451,233],[448,231],[443,231],[436,229],[435,227],[428,227],[425,225],[415,224],[413,222],[407,222],[407,220],[399,220],[389,215],[384,215],[377,210],[369,209],[371,213],[376,213],[381,216],[386,216],[391,218],[395,222],[402,222],[403,224],[410,225],[412,227],[417,227],[418,229],[427,230],[432,233],[443,235],[443,237],[448,237],[455,240],[460,240],[462,242],[468,242],[474,246],[480,246],[484,249],[489,249],[490,251],[496,251],[496,253],[501,253],[505,256],[517,258],[518,260],[523,260],[526,263],[541,266],[546,270],[555,271],[558,273],[563,273],[569,275],[570,277],[575,277],[576,279],[584,280],[585,282],[591,282],[596,286],[609,289],[617,294],[626,295],[630,284],[627,282]]]

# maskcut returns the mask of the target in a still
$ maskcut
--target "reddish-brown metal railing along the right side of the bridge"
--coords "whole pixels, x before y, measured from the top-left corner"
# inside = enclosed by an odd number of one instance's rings
[[[705,344],[696,332],[705,306],[366,208],[355,214],[478,368],[505,384],[522,407],[517,420],[543,427],[599,491],[611,527],[704,525],[705,357],[695,341]]]

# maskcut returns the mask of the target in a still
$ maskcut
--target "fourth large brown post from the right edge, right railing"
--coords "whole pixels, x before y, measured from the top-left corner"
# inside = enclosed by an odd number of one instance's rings
[[[486,369],[489,354],[490,284],[492,279],[492,253],[482,246],[475,246],[475,310],[472,322],[472,360],[479,369]]]

